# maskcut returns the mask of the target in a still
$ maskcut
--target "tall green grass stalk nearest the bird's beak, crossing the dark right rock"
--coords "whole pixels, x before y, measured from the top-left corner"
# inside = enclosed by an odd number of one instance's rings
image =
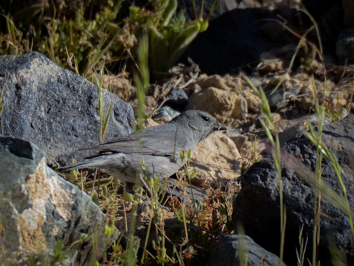
[[[279,142],[279,135],[278,132],[276,131],[275,125],[273,123],[273,118],[272,114],[270,112],[270,107],[269,103],[267,100],[267,96],[265,96],[265,93],[262,89],[262,87],[259,86],[259,88],[256,88],[256,86],[252,83],[249,77],[247,77],[245,74],[242,74],[242,77],[247,81],[247,83],[251,86],[251,88],[254,90],[254,92],[258,95],[258,97],[262,101],[262,109],[263,109],[263,115],[265,117],[265,121],[261,118],[259,121],[262,124],[263,130],[265,134],[267,135],[273,151],[273,160],[275,164],[275,171],[276,171],[276,177],[278,179],[278,184],[279,184],[279,198],[280,198],[280,263],[282,265],[282,260],[283,260],[283,250],[284,250],[284,239],[285,239],[285,224],[286,224],[286,208],[285,205],[283,204],[283,188],[282,188],[282,180],[281,180],[281,161],[280,161],[280,142]],[[274,135],[274,137],[273,137]]]

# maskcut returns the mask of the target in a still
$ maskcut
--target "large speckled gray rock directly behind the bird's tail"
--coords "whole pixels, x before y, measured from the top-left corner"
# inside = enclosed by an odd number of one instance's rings
[[[5,108],[0,117],[2,135],[37,144],[48,163],[68,164],[82,159],[73,151],[99,144],[97,87],[64,70],[44,55],[0,56],[0,88],[5,86]],[[114,97],[106,141],[135,128],[131,107],[107,90],[103,102]]]

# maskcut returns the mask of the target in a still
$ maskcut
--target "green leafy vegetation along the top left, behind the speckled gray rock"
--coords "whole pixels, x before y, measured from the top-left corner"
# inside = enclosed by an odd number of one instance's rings
[[[112,73],[117,72],[117,67],[120,72],[125,64],[134,69],[138,55],[132,53],[132,48],[136,36],[146,32],[150,74],[159,79],[165,77],[196,35],[206,30],[216,9],[214,2],[206,19],[195,15],[194,21],[187,21],[182,12],[177,14],[177,0],[149,1],[143,7],[131,5],[129,9],[123,3],[40,2],[16,13],[10,13],[10,7],[2,4],[6,32],[0,40],[0,54],[38,51],[59,66],[90,79],[93,69],[103,62]]]

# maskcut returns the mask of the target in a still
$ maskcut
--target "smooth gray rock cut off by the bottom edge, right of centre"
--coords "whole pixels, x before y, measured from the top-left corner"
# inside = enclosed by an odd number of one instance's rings
[[[242,253],[242,255],[240,255]],[[279,266],[280,259],[257,245],[249,236],[232,234],[210,250],[207,266]],[[283,266],[286,266],[284,262]]]

